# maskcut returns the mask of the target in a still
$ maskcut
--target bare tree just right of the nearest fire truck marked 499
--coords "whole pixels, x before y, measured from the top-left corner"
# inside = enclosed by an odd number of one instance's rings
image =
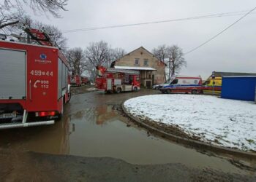
[[[67,50],[67,60],[72,68],[72,74],[81,75],[83,71],[86,71],[86,56],[84,51],[80,47],[75,47]]]

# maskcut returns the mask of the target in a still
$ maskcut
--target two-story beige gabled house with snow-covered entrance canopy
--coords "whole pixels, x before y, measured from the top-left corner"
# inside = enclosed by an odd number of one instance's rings
[[[165,66],[144,47],[129,52],[111,65],[114,68],[140,71],[140,84],[145,87],[165,82]]]

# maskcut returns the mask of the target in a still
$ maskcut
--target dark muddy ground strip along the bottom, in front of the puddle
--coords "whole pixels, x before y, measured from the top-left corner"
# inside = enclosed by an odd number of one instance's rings
[[[0,149],[1,181],[256,181],[253,176],[181,164],[130,165],[120,159],[73,157]]]

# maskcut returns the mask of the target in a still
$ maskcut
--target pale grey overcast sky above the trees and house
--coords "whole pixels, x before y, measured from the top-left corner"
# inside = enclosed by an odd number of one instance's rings
[[[249,11],[255,0],[69,0],[62,18],[33,15],[43,23],[56,25],[61,31],[108,25],[143,23],[195,17],[222,12]],[[256,11],[255,11],[256,13]],[[244,12],[245,14],[245,12]],[[107,41],[111,47],[127,52],[140,46],[151,51],[160,44],[177,44],[184,52],[216,35],[238,20],[238,16],[214,17],[172,23],[138,25],[97,31],[64,33],[69,47],[86,48],[91,41]],[[212,71],[256,72],[256,14],[249,15],[228,31],[195,52],[185,55],[187,68],[180,74],[203,76]]]

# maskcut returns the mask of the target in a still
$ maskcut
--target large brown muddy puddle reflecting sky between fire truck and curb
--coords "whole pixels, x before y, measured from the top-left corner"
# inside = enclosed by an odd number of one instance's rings
[[[158,92],[140,90],[114,95],[104,92],[73,95],[60,122],[44,127],[2,130],[0,148],[80,157],[113,157],[133,165],[180,163],[199,169],[256,175],[232,165],[227,159],[201,154],[195,149],[148,135],[146,130],[129,122],[118,111],[124,100],[155,93]],[[248,163],[255,167],[255,162]]]

